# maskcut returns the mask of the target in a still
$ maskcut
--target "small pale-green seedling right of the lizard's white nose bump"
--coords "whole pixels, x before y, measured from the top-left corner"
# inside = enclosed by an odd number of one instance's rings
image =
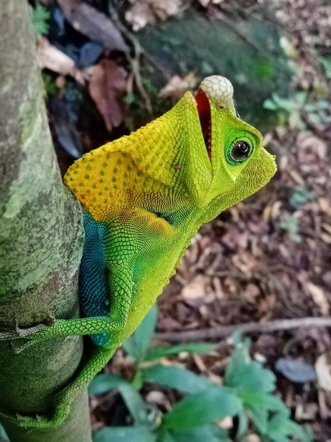
[[[279,123],[288,123],[291,128],[306,129],[307,123],[319,124],[328,121],[331,105],[326,100],[308,101],[306,92],[297,92],[289,98],[281,98],[273,93],[265,100],[264,109],[275,111]]]

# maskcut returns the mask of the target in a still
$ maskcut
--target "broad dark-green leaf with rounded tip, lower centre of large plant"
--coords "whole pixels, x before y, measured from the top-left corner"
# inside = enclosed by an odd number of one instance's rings
[[[238,414],[240,400],[224,387],[211,387],[179,401],[162,419],[163,428],[186,430]]]

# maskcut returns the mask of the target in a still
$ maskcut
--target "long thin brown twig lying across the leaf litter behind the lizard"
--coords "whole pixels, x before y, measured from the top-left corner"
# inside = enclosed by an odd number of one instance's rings
[[[156,333],[155,339],[169,342],[201,341],[205,339],[219,339],[229,336],[234,331],[243,333],[270,333],[272,331],[292,330],[308,327],[331,327],[331,316],[321,318],[276,319],[268,322],[247,322],[230,326],[219,326],[212,329],[189,331],[167,331]]]

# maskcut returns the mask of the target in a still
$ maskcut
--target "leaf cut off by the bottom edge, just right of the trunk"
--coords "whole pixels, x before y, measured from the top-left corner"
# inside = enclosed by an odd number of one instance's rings
[[[92,435],[93,442],[155,442],[156,433],[147,427],[103,427]]]

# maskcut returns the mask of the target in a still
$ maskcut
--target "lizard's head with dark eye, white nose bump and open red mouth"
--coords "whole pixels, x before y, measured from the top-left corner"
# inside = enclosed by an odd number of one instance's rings
[[[220,212],[266,184],[276,172],[276,163],[263,148],[261,134],[239,118],[228,79],[205,78],[194,104],[201,127],[196,148],[204,150],[203,174],[210,177],[196,189],[195,203],[202,206],[217,198],[216,212]]]

